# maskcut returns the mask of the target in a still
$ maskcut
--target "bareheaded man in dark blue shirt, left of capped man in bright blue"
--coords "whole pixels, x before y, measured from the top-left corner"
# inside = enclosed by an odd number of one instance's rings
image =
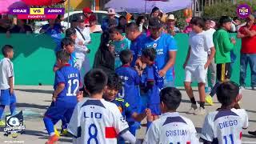
[[[130,66],[134,67],[138,58],[138,52],[142,49],[143,39],[146,38],[146,34],[139,31],[135,22],[130,22],[126,25],[126,37],[130,39],[130,51],[133,54],[133,61]]]

